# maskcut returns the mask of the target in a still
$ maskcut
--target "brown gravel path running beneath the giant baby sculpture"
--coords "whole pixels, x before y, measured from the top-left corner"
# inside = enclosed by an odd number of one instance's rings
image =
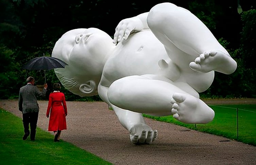
[[[217,105],[223,100],[205,102]],[[233,102],[225,100],[227,104]],[[237,103],[256,104],[256,99],[237,99]],[[38,127],[46,131],[47,104],[39,101]],[[21,117],[17,105],[17,100],[0,100],[1,108]],[[115,165],[256,165],[256,147],[252,145],[148,118],[146,122],[158,130],[158,138],[150,145],[134,145],[106,103],[67,102],[67,106],[68,129],[61,139]]]

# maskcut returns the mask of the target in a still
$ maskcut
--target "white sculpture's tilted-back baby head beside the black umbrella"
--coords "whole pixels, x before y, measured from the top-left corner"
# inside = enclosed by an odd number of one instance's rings
[[[52,57],[68,64],[54,69],[62,85],[81,97],[97,95],[104,64],[115,47],[112,40],[97,28],[70,30],[59,38]]]

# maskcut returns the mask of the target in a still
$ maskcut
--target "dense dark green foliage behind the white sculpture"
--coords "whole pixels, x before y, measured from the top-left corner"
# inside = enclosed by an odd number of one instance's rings
[[[34,76],[37,84],[44,84],[44,71],[24,70],[21,66],[43,54],[51,56],[55,42],[65,32],[95,27],[113,36],[120,20],[148,12],[161,2],[172,2],[198,16],[238,62],[235,73],[216,73],[214,83],[201,96],[256,97],[253,60],[256,53],[256,2],[0,0],[0,99],[17,98],[19,88],[28,76]],[[238,6],[241,6],[242,13]],[[51,84],[58,82],[58,79],[53,70],[46,71],[46,77],[51,90]],[[67,90],[63,91],[68,100],[80,98]],[[100,100],[98,96],[85,98],[94,99]]]

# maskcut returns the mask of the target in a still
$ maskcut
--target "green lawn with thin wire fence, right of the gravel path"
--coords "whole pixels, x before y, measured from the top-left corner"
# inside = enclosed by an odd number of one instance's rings
[[[172,116],[144,116],[161,122],[174,123],[201,132],[221,135],[229,139],[256,146],[256,105],[211,105],[210,107],[214,109],[215,117],[213,121],[207,124],[184,124],[177,121]]]

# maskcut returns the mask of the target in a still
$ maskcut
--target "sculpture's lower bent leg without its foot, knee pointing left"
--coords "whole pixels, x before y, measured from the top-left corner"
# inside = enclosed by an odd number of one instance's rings
[[[113,105],[139,113],[170,113],[174,92],[186,93],[163,80],[128,76],[116,80],[108,89]]]

